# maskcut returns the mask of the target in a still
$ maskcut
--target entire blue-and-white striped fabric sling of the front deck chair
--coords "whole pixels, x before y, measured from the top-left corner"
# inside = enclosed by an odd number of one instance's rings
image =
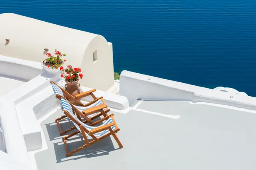
[[[66,110],[67,112],[69,112],[69,114],[70,114],[71,116],[73,116],[73,118],[75,118],[76,121],[78,121],[78,122],[79,122],[83,127],[85,127],[87,130],[90,131],[90,130],[96,128],[96,126],[93,126],[93,127],[92,127],[92,126],[88,126],[87,124],[84,124],[82,121],[80,121],[79,118],[77,118],[77,117],[73,114],[72,107],[71,107],[71,105],[68,103],[68,101],[67,101],[66,99],[61,98],[61,104],[62,104],[63,109]],[[72,121],[72,122],[73,122],[73,121]],[[107,124],[111,124],[111,123],[113,123],[112,118],[108,118],[107,121],[105,121],[102,125],[97,126],[97,127],[101,127],[101,126],[104,126],[104,125],[107,125]],[[80,130],[80,128],[79,128],[79,125],[77,125],[75,122],[73,122],[73,124],[74,124],[74,125],[76,126],[76,128],[81,132],[81,130]],[[112,129],[112,130],[115,130],[116,127],[115,127],[115,126],[112,126],[111,129]],[[105,135],[106,133],[109,133],[109,132],[110,132],[109,130],[104,130],[104,131],[102,131],[102,132],[95,133],[94,135],[96,136],[96,138],[99,138],[99,137],[101,137],[101,136],[103,136],[103,135]],[[91,139],[90,135],[88,135],[87,133],[85,133],[85,134],[86,134],[86,136],[87,136],[88,139]]]

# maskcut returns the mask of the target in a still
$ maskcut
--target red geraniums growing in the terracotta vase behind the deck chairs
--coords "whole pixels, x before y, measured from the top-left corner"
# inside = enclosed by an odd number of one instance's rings
[[[62,72],[61,77],[65,78],[65,81],[67,82],[74,82],[78,81],[79,78],[82,79],[83,75],[81,74],[81,69],[73,68],[71,65],[68,65],[66,69],[63,68],[63,66],[60,67],[60,70]]]

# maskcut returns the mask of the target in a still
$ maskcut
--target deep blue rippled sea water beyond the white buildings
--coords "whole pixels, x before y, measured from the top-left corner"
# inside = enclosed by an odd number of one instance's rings
[[[103,35],[116,72],[256,96],[256,0],[0,0],[5,12]]]

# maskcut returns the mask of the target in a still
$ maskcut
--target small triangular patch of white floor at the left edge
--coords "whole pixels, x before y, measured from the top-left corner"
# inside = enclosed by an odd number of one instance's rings
[[[26,80],[0,75],[0,97],[6,95],[26,82]]]

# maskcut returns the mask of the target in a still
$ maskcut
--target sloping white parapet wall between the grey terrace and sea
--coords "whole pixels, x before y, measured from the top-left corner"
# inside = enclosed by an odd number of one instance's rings
[[[141,98],[145,100],[207,102],[256,110],[256,98],[254,97],[129,71],[122,71],[120,75],[120,95],[127,97],[130,105]]]

